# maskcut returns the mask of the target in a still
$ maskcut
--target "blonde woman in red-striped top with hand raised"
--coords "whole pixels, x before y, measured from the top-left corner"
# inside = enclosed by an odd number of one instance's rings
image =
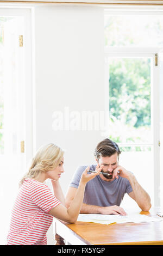
[[[43,145],[33,158],[28,173],[20,182],[20,191],[12,209],[7,245],[47,245],[46,233],[53,217],[75,223],[83,203],[86,182],[95,178],[96,173],[87,174],[87,167],[80,179],[72,204],[67,209],[59,185],[64,172],[64,151],[55,144]],[[53,191],[43,182],[51,179]]]

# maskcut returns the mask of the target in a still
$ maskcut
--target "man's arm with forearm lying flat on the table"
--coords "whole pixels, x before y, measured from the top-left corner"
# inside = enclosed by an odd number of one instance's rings
[[[77,192],[77,188],[69,187],[67,194],[66,194],[66,208],[69,208],[73,198],[75,197]],[[80,214],[121,214],[126,215],[126,212],[120,206],[113,205],[113,206],[98,206],[98,205],[89,205],[89,204],[82,204],[82,208],[80,209]]]

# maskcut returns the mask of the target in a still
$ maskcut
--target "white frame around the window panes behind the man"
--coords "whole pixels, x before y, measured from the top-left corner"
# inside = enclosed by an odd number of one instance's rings
[[[147,7],[146,7],[147,8]],[[162,11],[152,11],[146,10],[142,11],[141,8],[137,8],[138,10],[132,10],[132,8],[129,8],[128,10],[124,8],[120,8],[119,10],[116,10],[114,8],[114,11],[111,11],[111,9],[106,9],[104,11],[105,15],[163,15],[163,8]],[[107,58],[108,57],[151,57],[153,58],[153,86],[152,86],[152,124],[153,124],[153,143],[149,143],[149,145],[153,145],[153,157],[154,157],[154,206],[160,206],[161,200],[160,200],[160,187],[162,187],[161,184],[161,173],[160,173],[160,65],[159,65],[159,54],[163,51],[162,47],[136,47],[136,46],[105,46],[104,52],[105,52],[105,111],[108,112],[108,106],[109,106],[109,74],[108,74],[108,64],[107,64]],[[158,53],[158,66],[155,66],[155,54]],[[157,89],[156,89],[157,88]],[[118,143],[118,145],[124,147],[127,145],[136,145],[134,143],[132,144],[123,144]],[[145,143],[145,145],[147,145]]]

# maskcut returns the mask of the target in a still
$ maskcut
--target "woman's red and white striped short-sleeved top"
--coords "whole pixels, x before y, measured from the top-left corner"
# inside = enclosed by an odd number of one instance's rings
[[[48,212],[59,204],[46,184],[24,179],[12,209],[7,245],[47,245],[53,221]]]

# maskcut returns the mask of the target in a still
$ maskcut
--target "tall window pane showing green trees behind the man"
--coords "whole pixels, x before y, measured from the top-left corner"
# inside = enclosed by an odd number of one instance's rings
[[[109,119],[113,141],[152,143],[150,58],[109,58]]]

